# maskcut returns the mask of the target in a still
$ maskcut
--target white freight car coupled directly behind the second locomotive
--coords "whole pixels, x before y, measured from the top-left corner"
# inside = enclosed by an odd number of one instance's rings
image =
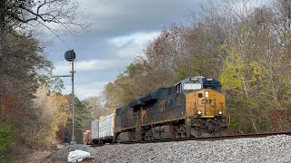
[[[101,142],[112,142],[115,133],[115,113],[107,115],[105,117],[100,117],[99,119],[99,139]]]

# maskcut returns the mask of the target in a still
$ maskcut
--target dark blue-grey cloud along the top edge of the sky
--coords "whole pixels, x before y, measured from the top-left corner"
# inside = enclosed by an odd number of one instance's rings
[[[198,0],[82,0],[81,6],[95,24],[98,34],[116,35],[133,33],[140,29],[148,31],[185,21],[181,17],[188,10],[196,10]]]

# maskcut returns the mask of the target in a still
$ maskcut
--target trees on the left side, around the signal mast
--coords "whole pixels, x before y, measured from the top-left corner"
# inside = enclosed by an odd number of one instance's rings
[[[15,147],[50,149],[64,142],[65,130],[71,132],[71,96],[62,94],[60,79],[45,75],[52,62],[34,31],[41,26],[55,34],[51,24],[84,28],[80,11],[70,0],[0,1],[0,159]],[[84,118],[86,102],[77,107],[76,116]],[[83,123],[76,122],[83,133]]]

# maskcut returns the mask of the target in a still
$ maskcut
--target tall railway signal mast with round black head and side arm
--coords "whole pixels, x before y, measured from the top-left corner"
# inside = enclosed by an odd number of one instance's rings
[[[53,75],[53,71],[51,69],[51,78],[57,78],[57,77],[71,77],[72,80],[72,114],[73,114],[73,127],[72,127],[72,139],[70,144],[76,144],[75,142],[75,92],[74,92],[74,60],[75,60],[75,52],[74,50],[66,51],[65,52],[65,60],[68,62],[71,62],[72,64],[72,71],[70,75]]]

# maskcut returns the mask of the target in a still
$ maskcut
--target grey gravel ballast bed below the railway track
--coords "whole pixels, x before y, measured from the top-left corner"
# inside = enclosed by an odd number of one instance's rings
[[[59,150],[55,156],[69,152]],[[90,153],[96,156],[94,162],[291,162],[291,137],[117,144]]]

